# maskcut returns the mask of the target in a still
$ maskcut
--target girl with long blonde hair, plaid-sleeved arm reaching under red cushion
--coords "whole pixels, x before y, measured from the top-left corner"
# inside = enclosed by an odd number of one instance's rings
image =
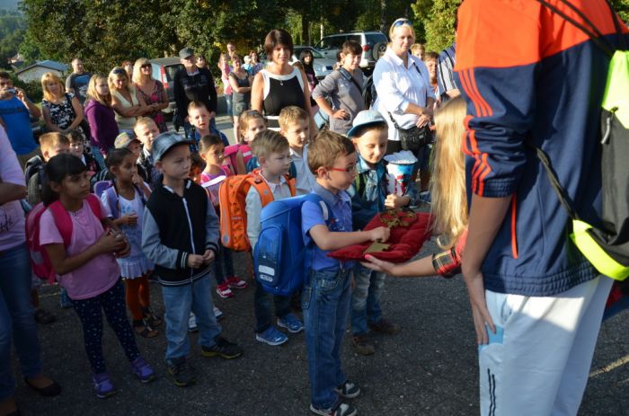
[[[439,234],[437,243],[445,250],[406,264],[394,264],[365,256],[370,269],[391,276],[428,277],[440,274],[452,277],[460,266],[460,253],[467,233],[467,197],[465,196],[465,156],[461,140],[465,133],[465,101],[456,97],[435,113],[437,141],[433,181],[430,184],[433,230]]]

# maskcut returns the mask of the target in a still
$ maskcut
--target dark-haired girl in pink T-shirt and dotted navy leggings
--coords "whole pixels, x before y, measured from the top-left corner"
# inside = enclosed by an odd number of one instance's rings
[[[131,371],[143,383],[155,379],[155,371],[137,349],[128,324],[124,288],[116,257],[128,255],[124,234],[105,217],[96,217],[85,165],[74,155],[57,155],[46,165],[44,203],[65,209],[72,221],[68,246],[49,208],[40,218],[40,244],[45,247],[57,280],[67,290],[83,324],[85,350],[92,367],[94,392],[100,398],[115,394],[102,357],[102,311],[125,351]],[[97,204],[101,205],[98,200]],[[103,207],[101,206],[101,212]],[[103,228],[103,225],[106,228]]]

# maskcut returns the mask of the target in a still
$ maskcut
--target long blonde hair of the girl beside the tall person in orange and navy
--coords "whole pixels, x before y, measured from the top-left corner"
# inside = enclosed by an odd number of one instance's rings
[[[435,113],[437,140],[430,182],[434,229],[437,243],[444,250],[452,248],[467,228],[465,193],[465,155],[461,142],[465,135],[465,100],[456,97]]]

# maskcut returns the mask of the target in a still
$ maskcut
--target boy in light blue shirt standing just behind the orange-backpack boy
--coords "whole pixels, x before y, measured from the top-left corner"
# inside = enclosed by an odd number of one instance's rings
[[[297,195],[306,195],[314,189],[314,176],[307,163],[309,129],[310,118],[304,109],[291,105],[279,112],[279,133],[288,140],[290,158],[295,165]]]

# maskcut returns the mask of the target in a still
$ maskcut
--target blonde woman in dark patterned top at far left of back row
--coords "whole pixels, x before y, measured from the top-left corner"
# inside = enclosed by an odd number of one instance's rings
[[[65,93],[61,78],[52,72],[41,76],[41,112],[49,131],[66,134],[68,130],[81,129],[83,106],[73,93]],[[82,131],[83,132],[83,131]]]

